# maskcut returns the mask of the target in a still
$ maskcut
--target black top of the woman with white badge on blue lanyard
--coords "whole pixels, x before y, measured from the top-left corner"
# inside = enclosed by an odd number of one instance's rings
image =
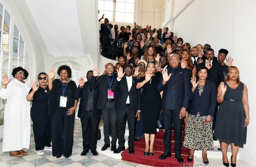
[[[66,83],[61,83],[60,79],[54,79],[52,82],[52,91],[51,94],[53,94],[53,111],[62,111],[67,112],[69,108],[73,107],[75,104],[75,92],[76,92],[76,83],[74,81],[68,82],[67,88],[64,93],[64,97],[67,97],[67,105],[66,107],[60,107],[60,96],[63,96],[62,91],[62,85],[63,89],[65,89]],[[76,99],[78,101],[78,99]]]

